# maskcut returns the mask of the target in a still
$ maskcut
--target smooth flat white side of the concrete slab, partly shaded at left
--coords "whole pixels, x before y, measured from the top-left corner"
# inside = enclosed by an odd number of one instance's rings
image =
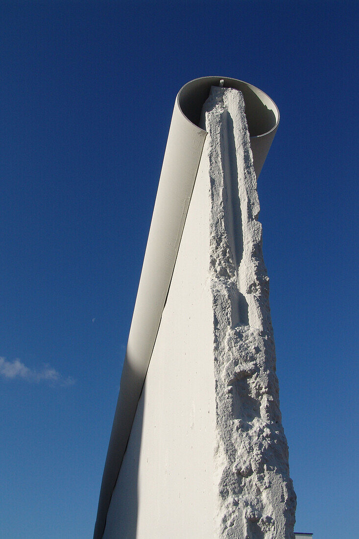
[[[105,539],[213,537],[209,178],[198,171]],[[143,414],[144,411],[144,414]]]

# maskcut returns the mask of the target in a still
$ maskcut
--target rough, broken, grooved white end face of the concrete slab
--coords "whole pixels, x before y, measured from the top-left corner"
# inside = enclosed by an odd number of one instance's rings
[[[210,287],[216,383],[216,537],[294,538],[296,497],[281,425],[257,181],[242,94],[212,87]]]

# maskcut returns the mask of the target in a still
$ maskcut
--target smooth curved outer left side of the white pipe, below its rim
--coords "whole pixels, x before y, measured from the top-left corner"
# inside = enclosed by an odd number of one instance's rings
[[[160,325],[205,136],[202,129],[185,118],[176,101],[103,471],[95,539],[102,537],[105,528],[109,501]]]

